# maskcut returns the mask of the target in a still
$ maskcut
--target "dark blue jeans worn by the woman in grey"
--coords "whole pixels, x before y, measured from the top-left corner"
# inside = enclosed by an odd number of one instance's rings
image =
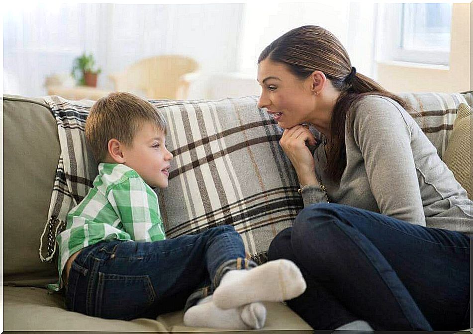
[[[301,269],[307,290],[287,304],[315,330],[359,319],[385,331],[470,328],[465,234],[314,204],[276,236],[268,257]]]

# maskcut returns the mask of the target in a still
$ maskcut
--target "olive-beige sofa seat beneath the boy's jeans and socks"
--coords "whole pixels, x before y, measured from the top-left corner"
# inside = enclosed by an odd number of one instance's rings
[[[265,331],[300,330],[312,333],[300,317],[282,303],[265,303],[268,310]],[[183,311],[152,319],[108,320],[85,316],[65,309],[64,297],[33,287],[3,287],[4,331],[86,331],[86,332],[226,332],[221,329],[184,326]],[[299,332],[298,332],[299,333]]]

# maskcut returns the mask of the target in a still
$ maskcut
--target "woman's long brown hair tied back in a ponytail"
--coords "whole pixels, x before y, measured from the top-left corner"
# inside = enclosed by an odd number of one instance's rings
[[[328,147],[326,170],[331,179],[339,181],[347,165],[345,122],[354,103],[366,95],[392,98],[403,108],[407,102],[382,88],[374,80],[356,72],[342,43],[328,30],[314,25],[298,27],[268,45],[258,58],[258,64],[269,58],[283,63],[300,80],[314,71],[321,71],[340,91],[330,122],[331,143]]]

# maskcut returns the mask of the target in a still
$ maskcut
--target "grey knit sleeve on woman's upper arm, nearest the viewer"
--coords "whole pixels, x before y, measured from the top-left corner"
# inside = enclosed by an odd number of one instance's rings
[[[425,226],[409,114],[380,96],[362,99],[354,111],[353,136],[380,213]]]

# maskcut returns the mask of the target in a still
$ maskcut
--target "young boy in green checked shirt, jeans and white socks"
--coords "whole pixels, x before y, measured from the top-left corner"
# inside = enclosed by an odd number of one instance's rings
[[[129,320],[185,307],[187,326],[258,329],[261,301],[305,290],[293,262],[256,267],[245,259],[232,226],[166,239],[151,186],[168,186],[173,155],[166,122],[149,102],[111,93],[92,106],[85,134],[98,175],[57,237],[69,310]]]

